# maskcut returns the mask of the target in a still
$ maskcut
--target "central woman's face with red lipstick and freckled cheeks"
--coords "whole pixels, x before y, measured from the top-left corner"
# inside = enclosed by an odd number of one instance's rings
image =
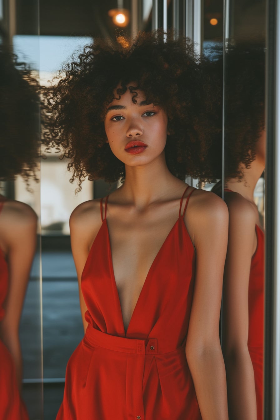
[[[147,105],[143,92],[132,102],[129,89],[108,105],[105,117],[107,141],[125,165],[145,165],[164,155],[167,115],[159,106]],[[115,93],[115,96],[116,95]]]

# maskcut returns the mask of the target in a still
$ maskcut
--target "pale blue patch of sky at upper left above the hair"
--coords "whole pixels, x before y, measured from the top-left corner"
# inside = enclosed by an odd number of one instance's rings
[[[1,2],[1,0],[0,0]],[[56,72],[73,53],[92,43],[91,37],[52,37],[37,35],[15,35],[14,52],[20,60],[30,63],[40,71]]]

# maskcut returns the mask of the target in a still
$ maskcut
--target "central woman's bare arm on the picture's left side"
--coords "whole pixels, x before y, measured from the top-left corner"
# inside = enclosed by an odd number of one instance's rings
[[[88,323],[84,319],[87,310],[86,303],[81,291],[81,275],[89,255],[90,248],[101,226],[99,201],[86,201],[76,207],[71,214],[70,220],[71,249],[79,284],[79,298],[81,315],[86,331]]]

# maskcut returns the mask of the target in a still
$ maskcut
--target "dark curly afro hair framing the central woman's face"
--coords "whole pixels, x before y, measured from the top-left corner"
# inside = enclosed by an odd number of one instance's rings
[[[217,127],[208,115],[212,83],[203,76],[199,60],[190,39],[156,30],[140,32],[131,41],[94,39],[76,60],[72,57],[64,65],[58,83],[44,92],[50,119],[43,142],[70,159],[68,170],[73,171],[71,182],[78,179],[78,191],[86,176],[124,181],[125,166],[106,142],[104,118],[116,87],[121,86],[120,98],[132,81],[148,103],[167,113],[170,135],[165,156],[170,172],[181,179],[186,175],[207,179],[204,155]]]

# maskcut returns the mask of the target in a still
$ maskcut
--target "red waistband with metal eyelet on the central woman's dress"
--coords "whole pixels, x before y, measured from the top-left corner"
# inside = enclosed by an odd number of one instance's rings
[[[110,334],[103,333],[102,331],[93,328],[92,325],[88,325],[84,336],[86,344],[92,346],[103,347],[107,350],[113,350],[116,352],[131,353],[131,354],[165,354],[183,349],[182,346],[178,349],[170,348],[164,349],[166,351],[158,351],[158,341],[155,338],[148,340],[139,339],[128,339],[119,336],[111,336]],[[163,350],[163,349],[162,349]]]

